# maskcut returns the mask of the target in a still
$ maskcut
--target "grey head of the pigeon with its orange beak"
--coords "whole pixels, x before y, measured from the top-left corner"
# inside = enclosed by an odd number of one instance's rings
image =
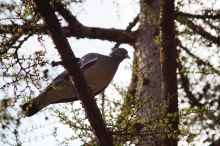
[[[116,48],[111,53],[110,56],[117,59],[118,61],[123,61],[125,58],[130,59],[128,51],[124,48]]]

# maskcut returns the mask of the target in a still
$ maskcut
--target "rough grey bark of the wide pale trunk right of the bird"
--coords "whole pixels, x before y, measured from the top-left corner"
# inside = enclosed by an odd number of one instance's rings
[[[156,43],[158,37],[158,24],[160,14],[160,0],[141,0],[139,15],[139,37],[136,41],[136,56],[138,60],[138,84],[137,96],[140,100],[152,98],[156,103],[162,102],[162,84],[161,84],[161,65],[159,45]],[[155,120],[157,116],[150,110],[151,103],[146,103],[145,108],[140,111],[142,123],[149,120]],[[147,120],[145,121],[145,118]],[[152,123],[153,124],[153,123]],[[159,132],[159,131],[158,131]],[[156,139],[145,139],[149,145],[158,145]],[[143,143],[143,141],[141,142]],[[143,145],[146,145],[143,144]]]

